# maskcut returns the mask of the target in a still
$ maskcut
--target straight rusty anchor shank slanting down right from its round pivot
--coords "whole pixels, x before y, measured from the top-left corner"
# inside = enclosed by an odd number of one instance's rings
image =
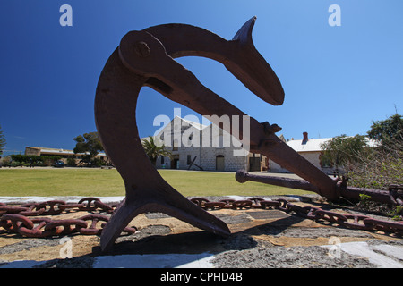
[[[133,53],[133,46],[147,45],[150,51],[147,56]],[[154,79],[150,87],[159,90],[166,97],[185,105],[202,115],[232,115],[242,118],[245,116],[236,106],[231,105],[222,97],[204,87],[199,80],[180,63],[177,63],[170,55],[167,55],[165,46],[159,39],[145,31],[129,32],[119,46],[120,56],[124,65],[141,76]],[[152,85],[154,82],[162,84]],[[159,87],[165,88],[159,88]],[[232,124],[229,124],[232,126]],[[244,135],[244,126],[240,124],[239,133],[226,130],[240,139]],[[297,154],[291,147],[282,142],[273,131],[267,130],[267,126],[250,118],[250,144],[256,152],[269,156],[273,161],[281,164],[290,172],[294,172],[306,181],[310,181],[319,189],[318,193],[326,198],[339,198],[336,183],[325,173],[317,169],[313,164]],[[224,126],[226,129],[226,126]]]

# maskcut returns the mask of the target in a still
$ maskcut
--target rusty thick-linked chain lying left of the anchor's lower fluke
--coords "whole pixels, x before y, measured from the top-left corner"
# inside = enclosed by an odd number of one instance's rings
[[[77,204],[66,203],[63,200],[52,200],[21,206],[7,206],[0,203],[0,227],[12,233],[19,233],[30,238],[45,238],[51,236],[81,233],[85,235],[100,235],[109,217],[103,214],[87,214],[77,219],[52,220],[48,217],[33,217],[37,215],[57,215],[64,212],[87,211],[112,214],[116,205],[107,205],[99,198],[81,198]],[[89,222],[89,223],[87,223]],[[102,223],[103,222],[103,223]],[[99,225],[100,224],[100,225]],[[98,226],[97,226],[98,225]],[[134,233],[135,227],[126,227],[124,232]]]

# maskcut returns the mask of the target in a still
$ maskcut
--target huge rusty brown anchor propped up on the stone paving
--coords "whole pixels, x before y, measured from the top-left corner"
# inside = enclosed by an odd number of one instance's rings
[[[204,87],[174,58],[196,55],[223,63],[246,88],[272,105],[281,105],[284,91],[270,64],[253,46],[252,30],[256,18],[246,21],[232,40],[220,38],[206,29],[185,24],[167,24],[131,31],[110,55],[99,76],[95,98],[95,120],[107,156],[124,180],[125,198],[101,235],[102,250],[115,242],[124,227],[138,214],[161,212],[202,230],[227,236],[227,224],[202,210],[159,175],[150,163],[139,138],[136,103],[141,87],[148,86],[202,115],[227,114],[232,121],[246,116]],[[213,122],[214,123],[214,122]],[[239,122],[238,122],[239,123]],[[232,125],[232,124],[231,124]],[[227,130],[237,139],[239,132]],[[314,185],[326,198],[339,198],[337,182],[318,170],[304,157],[281,141],[276,124],[250,118],[250,149],[269,156],[290,172]]]

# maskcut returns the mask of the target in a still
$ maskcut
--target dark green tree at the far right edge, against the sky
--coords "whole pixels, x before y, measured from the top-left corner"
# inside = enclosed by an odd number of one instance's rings
[[[371,130],[368,131],[371,139],[378,140],[384,147],[392,147],[403,142],[403,117],[400,114],[393,114],[386,120],[373,122]]]

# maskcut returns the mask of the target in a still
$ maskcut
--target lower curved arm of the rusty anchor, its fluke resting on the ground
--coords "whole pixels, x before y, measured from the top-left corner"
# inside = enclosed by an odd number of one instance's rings
[[[99,77],[95,98],[99,138],[121,174],[126,190],[124,202],[102,231],[102,250],[113,245],[134,216],[146,212],[163,212],[206,231],[229,235],[226,223],[172,188],[146,156],[135,118],[137,97],[145,80],[124,67],[117,50],[109,57]]]

